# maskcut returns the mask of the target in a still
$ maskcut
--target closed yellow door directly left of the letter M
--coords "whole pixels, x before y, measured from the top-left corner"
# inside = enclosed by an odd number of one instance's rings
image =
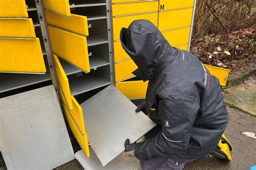
[[[112,15],[122,16],[134,13],[145,13],[158,11],[158,1],[134,2],[112,5]]]

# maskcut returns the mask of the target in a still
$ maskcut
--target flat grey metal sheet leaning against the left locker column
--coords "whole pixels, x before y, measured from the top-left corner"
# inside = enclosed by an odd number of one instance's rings
[[[52,169],[74,159],[53,86],[0,99],[0,151],[8,169]]]

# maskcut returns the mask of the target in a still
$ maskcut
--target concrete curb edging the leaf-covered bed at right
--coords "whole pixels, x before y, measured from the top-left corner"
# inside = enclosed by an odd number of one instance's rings
[[[233,73],[228,76],[227,84],[225,88],[232,87],[232,86],[237,86],[241,83],[243,83],[248,77],[254,75],[256,72],[256,67],[250,68],[246,70],[245,72],[241,73]]]

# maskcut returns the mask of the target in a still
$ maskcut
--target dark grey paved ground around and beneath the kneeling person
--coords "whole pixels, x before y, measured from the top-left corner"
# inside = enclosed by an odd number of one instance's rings
[[[227,162],[218,158],[205,158],[193,161],[185,165],[185,170],[190,169],[250,169],[256,165],[256,139],[242,135],[242,132],[256,133],[256,117],[245,112],[227,107],[229,122],[225,134],[230,140],[233,151],[231,152],[233,161]],[[78,150],[76,141],[73,146]],[[76,152],[76,151],[75,151]],[[77,160],[62,165],[60,169],[83,169]]]

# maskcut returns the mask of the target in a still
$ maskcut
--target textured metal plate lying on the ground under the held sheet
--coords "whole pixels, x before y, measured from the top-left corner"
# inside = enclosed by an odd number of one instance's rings
[[[96,153],[89,147],[90,149],[90,158],[87,158],[83,152],[80,150],[75,153],[75,158],[80,163],[80,165],[84,169],[123,169],[123,170],[131,170],[131,169],[141,169],[139,160],[131,155],[127,155],[126,153],[119,154],[116,158],[114,158],[109,164],[106,166],[102,166],[99,161]]]

